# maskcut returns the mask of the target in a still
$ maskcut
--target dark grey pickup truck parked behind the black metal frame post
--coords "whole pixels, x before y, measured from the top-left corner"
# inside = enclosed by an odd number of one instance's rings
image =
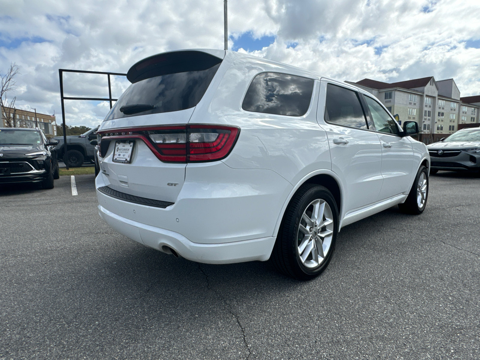
[[[92,164],[95,163],[95,145],[90,144],[90,141],[96,140],[97,129],[98,128],[94,128],[82,135],[67,136],[67,159],[69,167],[78,168],[87,160]],[[59,142],[59,144],[55,146],[55,149],[57,150],[58,159],[63,161],[63,155],[65,154],[63,136],[57,136],[53,139]]]

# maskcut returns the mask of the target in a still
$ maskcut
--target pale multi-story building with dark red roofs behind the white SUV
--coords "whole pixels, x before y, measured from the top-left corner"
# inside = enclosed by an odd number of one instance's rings
[[[453,79],[435,81],[430,76],[391,84],[372,79],[346,83],[376,96],[392,114],[398,114],[400,121],[417,121],[419,140],[426,144],[456,132],[459,124],[479,123],[480,96],[460,98]]]

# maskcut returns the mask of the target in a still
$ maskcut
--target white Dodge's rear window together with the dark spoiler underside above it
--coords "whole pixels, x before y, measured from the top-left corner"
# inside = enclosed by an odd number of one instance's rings
[[[132,84],[105,120],[193,108],[204,96],[221,61],[200,51],[179,51],[138,62],[127,73]]]

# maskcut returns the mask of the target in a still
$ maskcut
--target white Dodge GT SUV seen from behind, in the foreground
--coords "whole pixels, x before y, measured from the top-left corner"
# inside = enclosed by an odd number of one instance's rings
[[[420,214],[430,156],[371,94],[223,50],[134,64],[98,129],[98,211],[148,247],[211,264],[272,258],[311,279],[340,228]]]

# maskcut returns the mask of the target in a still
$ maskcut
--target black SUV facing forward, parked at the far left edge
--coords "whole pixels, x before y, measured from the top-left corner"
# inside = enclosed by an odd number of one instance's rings
[[[41,182],[53,189],[60,177],[57,144],[36,129],[0,128],[0,184]]]

